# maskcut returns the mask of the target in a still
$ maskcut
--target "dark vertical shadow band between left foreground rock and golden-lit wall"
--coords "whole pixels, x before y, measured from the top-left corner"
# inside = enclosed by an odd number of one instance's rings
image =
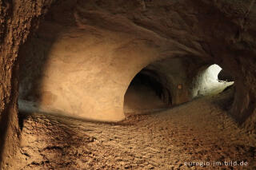
[[[42,81],[49,65],[50,50],[59,35],[75,25],[72,8],[76,3],[70,0],[53,2],[38,29],[34,28],[21,45],[18,51],[19,100],[42,103]]]

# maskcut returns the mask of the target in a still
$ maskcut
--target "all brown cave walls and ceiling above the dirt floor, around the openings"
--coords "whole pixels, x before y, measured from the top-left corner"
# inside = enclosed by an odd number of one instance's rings
[[[21,75],[20,98],[78,117],[118,121],[130,81],[146,66],[180,58],[184,70],[176,75],[184,78],[171,79],[170,88],[178,104],[190,100],[188,89],[200,68],[215,63],[234,76],[230,114],[256,128],[254,1],[51,2],[0,1],[1,156],[14,155],[18,139],[18,64],[29,70]]]

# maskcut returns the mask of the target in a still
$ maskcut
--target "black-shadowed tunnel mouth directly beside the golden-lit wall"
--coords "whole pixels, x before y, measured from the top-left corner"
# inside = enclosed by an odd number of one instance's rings
[[[172,105],[170,91],[162,84],[158,74],[142,69],[130,82],[124,97],[124,113],[145,114]]]

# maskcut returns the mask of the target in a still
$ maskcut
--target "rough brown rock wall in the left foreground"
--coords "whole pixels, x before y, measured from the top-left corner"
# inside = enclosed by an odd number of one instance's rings
[[[51,1],[0,1],[0,169],[18,146],[18,49]]]

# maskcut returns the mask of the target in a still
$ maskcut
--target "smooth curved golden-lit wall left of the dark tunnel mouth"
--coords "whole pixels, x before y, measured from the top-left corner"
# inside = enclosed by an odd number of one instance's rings
[[[123,97],[130,80],[154,60],[154,50],[143,42],[138,42],[139,47],[130,44],[118,49],[117,42],[130,41],[126,34],[95,32],[98,37],[76,29],[66,30],[55,39],[50,34],[38,33],[39,38],[26,44],[33,48],[21,52],[27,62],[22,65],[20,99],[75,117],[122,120]],[[38,65],[40,72],[34,73],[38,68],[31,65],[38,61],[44,63]]]

